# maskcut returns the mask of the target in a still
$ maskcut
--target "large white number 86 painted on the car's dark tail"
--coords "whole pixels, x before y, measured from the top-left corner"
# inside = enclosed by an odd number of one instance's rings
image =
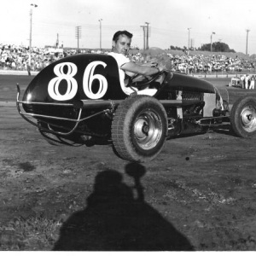
[[[94,74],[98,65],[106,67],[107,64],[102,61],[91,62],[84,70],[83,88],[84,93],[90,99],[99,99],[105,95],[108,90],[108,81],[101,74]],[[64,67],[67,67],[67,73],[64,73]],[[78,91],[78,82],[73,76],[78,72],[78,67],[72,62],[63,62],[54,67],[56,77],[51,79],[48,84],[48,93],[55,101],[67,101],[73,99]],[[96,93],[92,91],[92,82],[97,79],[99,81],[99,89]],[[62,80],[67,81],[67,90],[65,94],[61,94],[59,87]]]

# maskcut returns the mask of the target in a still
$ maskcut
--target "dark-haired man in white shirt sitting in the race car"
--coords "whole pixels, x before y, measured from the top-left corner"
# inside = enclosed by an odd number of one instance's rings
[[[161,65],[159,67],[154,67],[155,63],[148,62],[145,64],[138,64],[131,61],[126,55],[131,47],[132,34],[127,31],[118,31],[113,35],[112,41],[112,52],[108,55],[112,55],[117,61],[119,67],[119,79],[122,89],[126,94],[131,94],[134,92],[130,87],[126,87],[128,80],[125,77],[134,76],[135,74],[142,74],[143,76],[150,76],[155,73],[159,73],[165,67]]]

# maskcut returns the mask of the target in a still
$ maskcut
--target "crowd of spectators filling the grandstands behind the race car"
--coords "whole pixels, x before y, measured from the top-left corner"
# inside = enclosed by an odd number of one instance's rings
[[[50,52],[49,48],[34,47],[29,51],[25,46],[15,46],[0,44],[0,69],[27,70],[31,62],[31,71],[40,71],[53,61],[57,61],[67,55],[76,55],[80,53],[105,53],[108,51],[84,50],[80,49],[62,49],[61,52]],[[29,56],[31,55],[31,61]],[[172,71],[182,73],[242,73],[253,72],[254,62],[245,59],[231,58],[226,55],[172,55],[167,53],[172,61]],[[137,61],[140,53],[133,53],[131,60]]]

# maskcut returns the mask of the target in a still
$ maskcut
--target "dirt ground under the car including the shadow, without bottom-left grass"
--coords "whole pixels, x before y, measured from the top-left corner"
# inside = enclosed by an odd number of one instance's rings
[[[60,221],[46,250],[256,249],[255,139],[229,127],[178,137],[143,165],[119,159],[111,145],[52,146],[15,108],[16,82],[25,90],[30,79],[0,76],[0,226]],[[231,103],[254,93],[210,80]]]

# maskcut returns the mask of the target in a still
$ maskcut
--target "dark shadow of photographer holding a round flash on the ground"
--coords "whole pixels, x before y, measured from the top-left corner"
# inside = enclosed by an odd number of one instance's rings
[[[135,180],[137,198],[119,172],[100,172],[87,207],[62,225],[55,251],[193,250],[187,238],[144,201],[140,178],[145,168],[128,164],[125,172]]]

